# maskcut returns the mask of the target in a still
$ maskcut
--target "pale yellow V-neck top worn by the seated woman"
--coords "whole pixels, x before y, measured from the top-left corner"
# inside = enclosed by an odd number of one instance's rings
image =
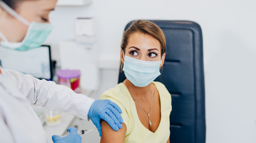
[[[166,143],[170,137],[171,95],[162,83],[152,83],[155,84],[159,92],[161,107],[160,124],[155,133],[145,128],[140,122],[133,98],[123,83],[119,83],[115,88],[105,91],[100,98],[109,99],[122,109],[121,116],[127,127],[125,143]]]

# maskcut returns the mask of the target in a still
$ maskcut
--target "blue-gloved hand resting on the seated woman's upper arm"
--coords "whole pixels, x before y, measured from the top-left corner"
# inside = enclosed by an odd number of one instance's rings
[[[120,113],[122,110],[116,103],[107,99],[95,100],[89,109],[88,117],[93,121],[96,128],[99,128],[99,136],[101,136],[100,119],[105,120],[113,130],[118,131],[119,128],[123,127],[121,124],[123,118]]]

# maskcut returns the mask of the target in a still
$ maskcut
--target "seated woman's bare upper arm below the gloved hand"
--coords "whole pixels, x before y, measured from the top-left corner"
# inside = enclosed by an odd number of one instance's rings
[[[124,143],[126,125],[122,123],[123,127],[118,131],[114,131],[106,121],[101,120],[101,143]]]

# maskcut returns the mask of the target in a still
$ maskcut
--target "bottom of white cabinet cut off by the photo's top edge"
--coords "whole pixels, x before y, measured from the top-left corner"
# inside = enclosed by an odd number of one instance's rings
[[[85,6],[91,2],[92,0],[58,0],[57,6]]]

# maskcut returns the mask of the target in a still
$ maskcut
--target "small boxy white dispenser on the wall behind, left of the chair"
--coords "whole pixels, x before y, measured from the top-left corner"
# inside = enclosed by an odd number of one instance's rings
[[[75,20],[75,40],[78,43],[93,44],[96,42],[94,18],[77,18]]]

